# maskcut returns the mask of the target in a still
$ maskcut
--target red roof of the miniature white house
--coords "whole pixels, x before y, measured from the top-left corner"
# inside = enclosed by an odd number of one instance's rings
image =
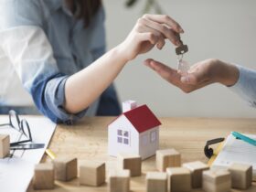
[[[161,124],[155,117],[155,114],[146,105],[142,105],[128,112],[123,112],[123,115],[133,124],[133,127],[138,133],[143,133]]]

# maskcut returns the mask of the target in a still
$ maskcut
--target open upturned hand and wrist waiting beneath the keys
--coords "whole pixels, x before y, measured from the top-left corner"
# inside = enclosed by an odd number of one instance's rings
[[[154,69],[163,79],[185,92],[195,91],[215,82],[232,86],[239,79],[239,69],[219,59],[200,61],[193,65],[187,71],[187,74],[182,74],[180,71],[171,69],[153,59],[145,60],[144,64]]]

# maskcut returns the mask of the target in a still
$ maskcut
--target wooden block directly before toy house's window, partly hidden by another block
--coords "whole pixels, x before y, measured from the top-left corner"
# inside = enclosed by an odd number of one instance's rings
[[[120,169],[129,169],[131,176],[142,175],[142,157],[140,155],[119,154],[117,164]]]

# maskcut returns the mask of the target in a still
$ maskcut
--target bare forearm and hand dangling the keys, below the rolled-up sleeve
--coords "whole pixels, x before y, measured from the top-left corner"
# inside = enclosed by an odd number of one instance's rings
[[[183,29],[169,16],[143,16],[123,43],[68,78],[65,84],[65,109],[77,113],[88,108],[110,86],[127,61],[155,45],[163,48],[165,38],[178,46],[179,33],[183,33]]]

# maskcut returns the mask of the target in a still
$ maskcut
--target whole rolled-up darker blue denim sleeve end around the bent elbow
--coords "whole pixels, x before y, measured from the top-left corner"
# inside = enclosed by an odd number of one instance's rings
[[[38,75],[30,90],[39,111],[55,123],[72,124],[86,112],[84,110],[77,114],[71,114],[63,108],[67,78],[68,76],[60,73],[51,76]]]

